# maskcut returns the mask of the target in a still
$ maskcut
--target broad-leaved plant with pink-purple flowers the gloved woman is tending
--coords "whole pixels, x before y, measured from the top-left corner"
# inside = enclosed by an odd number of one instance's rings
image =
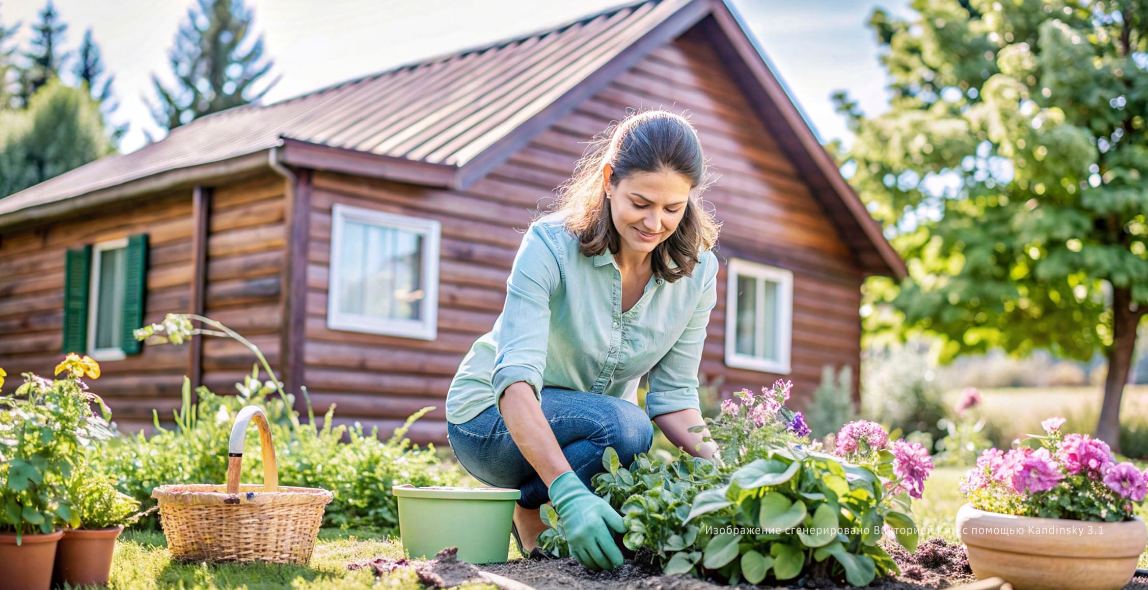
[[[916,549],[908,512],[932,469],[928,451],[903,440],[890,445],[881,425],[863,420],[837,433],[836,455],[821,451],[808,443],[800,414],[784,408],[789,387],[777,381],[723,403],[721,416],[707,420],[722,443],[714,463],[641,455],[620,469],[606,449],[596,493],[622,513],[622,543],[635,559],[730,584],[810,574],[866,585],[898,573],[878,541],[887,528]],[[545,518],[551,528],[540,545],[561,556],[561,522],[551,510]]]

